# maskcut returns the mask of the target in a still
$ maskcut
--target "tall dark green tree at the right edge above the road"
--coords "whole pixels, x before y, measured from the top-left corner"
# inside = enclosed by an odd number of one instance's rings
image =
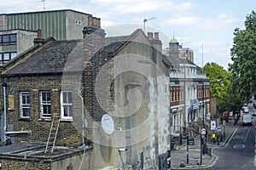
[[[245,29],[236,28],[231,48],[229,70],[234,96],[239,96],[241,104],[248,101],[256,91],[256,13],[248,14],[244,22]]]

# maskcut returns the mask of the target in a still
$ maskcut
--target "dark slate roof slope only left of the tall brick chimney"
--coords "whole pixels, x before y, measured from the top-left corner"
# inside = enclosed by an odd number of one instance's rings
[[[51,41],[32,54],[26,53],[27,58],[18,61],[13,67],[9,68],[7,65],[7,71],[3,71],[3,76],[55,74],[63,72],[64,68],[68,71],[79,71],[82,69],[83,53],[81,41]],[[67,62],[73,65],[67,65]]]

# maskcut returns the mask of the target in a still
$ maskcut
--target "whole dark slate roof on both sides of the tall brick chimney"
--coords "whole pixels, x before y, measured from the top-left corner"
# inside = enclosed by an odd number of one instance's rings
[[[119,49],[125,47],[125,44],[131,42],[141,32],[141,29],[137,29],[129,36],[106,37],[105,54],[117,53]],[[86,56],[84,56],[83,40],[55,41],[52,39],[45,42],[40,49],[27,51],[23,55],[24,59],[17,59],[15,62],[10,61],[5,66],[3,77],[34,74],[52,75],[67,71],[84,71]],[[99,55],[99,57],[102,57],[102,55]]]

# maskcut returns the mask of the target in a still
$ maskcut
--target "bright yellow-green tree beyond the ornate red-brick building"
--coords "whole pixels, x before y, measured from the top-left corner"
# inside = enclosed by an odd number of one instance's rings
[[[232,111],[230,101],[231,73],[216,63],[207,63],[203,70],[211,79],[210,93],[212,97],[217,99],[218,112]]]

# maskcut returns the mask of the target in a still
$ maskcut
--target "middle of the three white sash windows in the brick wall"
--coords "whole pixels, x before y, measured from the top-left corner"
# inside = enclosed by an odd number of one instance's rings
[[[50,92],[49,91],[40,92],[40,112],[43,118],[51,117],[50,105],[51,105]]]

